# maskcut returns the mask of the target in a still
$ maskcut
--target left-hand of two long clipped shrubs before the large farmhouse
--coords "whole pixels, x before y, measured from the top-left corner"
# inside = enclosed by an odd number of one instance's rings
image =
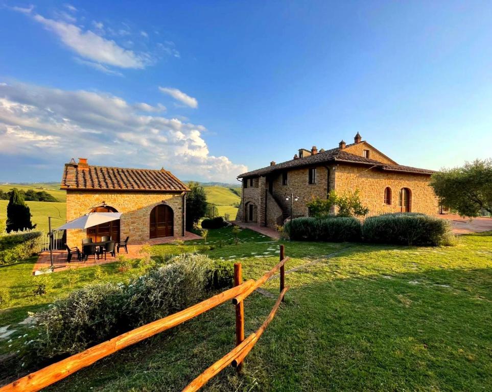
[[[345,242],[361,238],[361,224],[354,217],[295,218],[285,224],[284,231],[294,241]]]

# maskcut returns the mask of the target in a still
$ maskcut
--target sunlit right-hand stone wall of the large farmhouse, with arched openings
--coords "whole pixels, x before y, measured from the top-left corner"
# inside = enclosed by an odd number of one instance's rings
[[[411,173],[391,173],[377,168],[339,164],[335,169],[335,189],[338,194],[360,190],[362,203],[371,214],[400,212],[399,193],[402,188],[411,191],[411,212],[428,215],[438,213],[438,201],[429,185],[430,176]],[[384,189],[391,188],[391,205],[384,204]]]

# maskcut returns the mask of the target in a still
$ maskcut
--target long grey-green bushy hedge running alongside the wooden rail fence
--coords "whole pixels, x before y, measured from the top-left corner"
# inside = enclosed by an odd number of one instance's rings
[[[233,268],[205,255],[183,254],[127,284],[106,283],[73,291],[35,315],[38,359],[75,354],[101,341],[182,310],[206,288],[227,287]]]

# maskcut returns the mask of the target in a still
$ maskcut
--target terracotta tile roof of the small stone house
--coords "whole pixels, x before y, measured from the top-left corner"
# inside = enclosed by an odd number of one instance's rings
[[[88,166],[66,163],[61,189],[102,189],[136,191],[186,191],[188,186],[170,171],[123,167]]]

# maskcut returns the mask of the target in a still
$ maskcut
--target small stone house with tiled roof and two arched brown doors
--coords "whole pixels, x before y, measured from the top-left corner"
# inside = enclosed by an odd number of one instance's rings
[[[186,192],[190,189],[165,169],[129,169],[90,166],[79,158],[66,163],[61,180],[66,190],[66,218],[88,212],[121,212],[119,220],[88,228],[67,230],[68,246],[79,246],[82,238],[131,242],[185,234]]]

